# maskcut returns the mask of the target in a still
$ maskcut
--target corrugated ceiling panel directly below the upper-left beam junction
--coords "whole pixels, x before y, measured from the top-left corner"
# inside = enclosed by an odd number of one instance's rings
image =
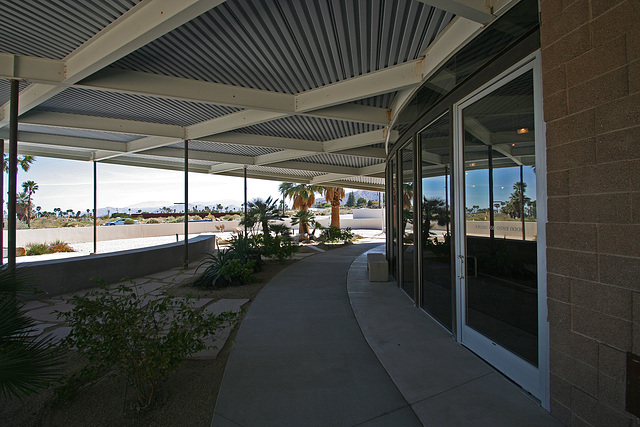
[[[190,126],[239,108],[128,93],[68,88],[35,110]]]

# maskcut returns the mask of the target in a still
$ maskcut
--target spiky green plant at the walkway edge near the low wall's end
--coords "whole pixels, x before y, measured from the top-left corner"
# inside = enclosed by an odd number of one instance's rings
[[[255,260],[240,260],[227,249],[208,254],[196,269],[197,272],[201,267],[206,267],[193,282],[193,286],[224,288],[246,285],[253,281],[251,274],[254,272],[255,263]]]

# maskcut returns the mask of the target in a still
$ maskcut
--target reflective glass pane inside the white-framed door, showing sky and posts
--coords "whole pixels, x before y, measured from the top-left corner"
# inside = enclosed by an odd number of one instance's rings
[[[533,75],[463,110],[466,322],[537,365]]]

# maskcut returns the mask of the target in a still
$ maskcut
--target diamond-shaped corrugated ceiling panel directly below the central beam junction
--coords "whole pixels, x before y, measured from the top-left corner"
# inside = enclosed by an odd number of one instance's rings
[[[383,126],[308,116],[289,116],[259,125],[239,129],[238,132],[281,138],[330,141],[359,133],[382,129]]]

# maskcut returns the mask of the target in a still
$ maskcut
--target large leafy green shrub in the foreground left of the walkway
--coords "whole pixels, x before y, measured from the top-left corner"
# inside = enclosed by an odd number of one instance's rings
[[[64,378],[62,395],[115,372],[133,385],[138,404],[149,406],[181,360],[207,348],[204,339],[238,316],[216,316],[166,294],[147,302],[133,285],[109,289],[102,283],[101,290],[74,297],[72,311],[58,313],[72,328],[62,344],[88,361]]]

